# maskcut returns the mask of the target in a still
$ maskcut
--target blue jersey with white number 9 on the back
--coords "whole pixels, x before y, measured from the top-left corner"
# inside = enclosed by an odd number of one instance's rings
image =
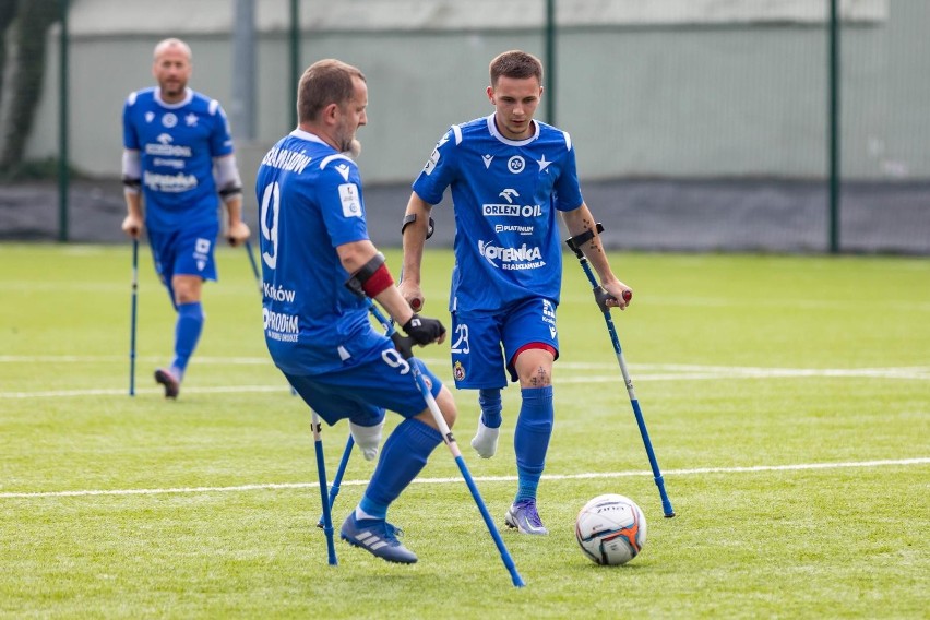
[[[255,194],[265,342],[277,367],[318,374],[383,346],[336,252],[369,238],[355,162],[294,130],[262,159]]]

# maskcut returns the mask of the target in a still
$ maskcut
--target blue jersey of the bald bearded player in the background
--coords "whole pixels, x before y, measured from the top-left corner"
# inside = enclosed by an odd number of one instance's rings
[[[233,153],[219,102],[188,88],[184,100],[166,104],[158,88],[138,91],[123,105],[122,135],[126,148],[140,152],[150,229],[218,222],[213,158]]]

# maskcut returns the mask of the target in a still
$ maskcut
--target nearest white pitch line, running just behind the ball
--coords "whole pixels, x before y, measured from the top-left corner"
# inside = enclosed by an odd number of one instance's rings
[[[850,467],[906,467],[911,465],[928,465],[930,457],[898,458],[894,461],[858,461],[847,463],[802,463],[797,465],[752,465],[747,467],[701,467],[694,469],[669,469],[663,472],[663,477],[669,476],[701,476],[706,474],[755,474],[760,472],[803,472],[811,469],[843,469]],[[603,472],[587,474],[546,474],[545,480],[580,480],[592,478],[628,478],[633,476],[652,476],[649,470],[643,472]],[[484,476],[474,478],[476,482],[513,482],[516,476]],[[415,485],[449,485],[462,482],[461,477],[454,478],[416,478]],[[368,480],[343,480],[342,487],[358,487],[368,485]],[[279,489],[314,489],[319,482],[269,482],[264,485],[240,485],[236,487],[177,487],[168,489],[85,489],[79,491],[34,491],[34,492],[0,492],[0,500],[32,499],[32,498],[74,498],[87,496],[160,496],[191,493],[230,493]]]

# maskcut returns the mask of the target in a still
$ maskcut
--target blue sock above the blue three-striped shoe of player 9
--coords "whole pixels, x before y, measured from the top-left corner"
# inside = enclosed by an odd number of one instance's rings
[[[397,425],[384,442],[358,508],[371,518],[385,518],[388,506],[422,470],[441,442],[442,434],[420,420],[407,418]]]

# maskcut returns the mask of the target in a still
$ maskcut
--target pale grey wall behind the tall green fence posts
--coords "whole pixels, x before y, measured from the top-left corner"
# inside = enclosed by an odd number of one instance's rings
[[[257,0],[258,139],[243,179],[290,130],[287,0]],[[151,85],[152,48],[181,36],[191,86],[231,106],[233,0],[74,0],[70,155],[116,176],[126,95]],[[559,0],[557,123],[586,179],[822,178],[826,170],[826,0]],[[545,0],[302,1],[301,61],[337,57],[369,80],[359,164],[369,183],[409,181],[452,122],[489,114],[488,61],[545,55]],[[843,2],[843,169],[930,178],[930,2]],[[518,25],[518,26],[511,26]],[[58,148],[58,38],[33,158]],[[550,68],[552,69],[552,68]],[[544,120],[545,114],[540,115]]]

